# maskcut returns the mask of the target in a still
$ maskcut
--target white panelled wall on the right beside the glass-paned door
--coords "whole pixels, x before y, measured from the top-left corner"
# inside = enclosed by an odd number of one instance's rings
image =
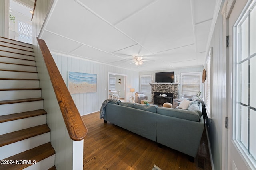
[[[223,2],[218,13],[218,18],[216,20],[214,32],[211,38],[210,47],[213,47],[212,55],[212,78],[211,87],[212,94],[210,96],[211,106],[210,115],[206,120],[208,137],[210,142],[210,149],[212,152],[213,168],[215,170],[222,169],[222,140],[223,140],[223,125],[225,117],[225,96],[226,96],[226,58],[223,55],[223,48],[225,44],[223,43],[223,25],[222,25],[222,14],[221,9]],[[209,47],[209,49],[210,49]],[[208,75],[207,75],[208,76]]]

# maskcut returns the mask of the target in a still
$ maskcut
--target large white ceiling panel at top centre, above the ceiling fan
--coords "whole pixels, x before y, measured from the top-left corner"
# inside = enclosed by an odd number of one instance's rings
[[[152,53],[194,43],[190,1],[159,0],[116,25]]]

